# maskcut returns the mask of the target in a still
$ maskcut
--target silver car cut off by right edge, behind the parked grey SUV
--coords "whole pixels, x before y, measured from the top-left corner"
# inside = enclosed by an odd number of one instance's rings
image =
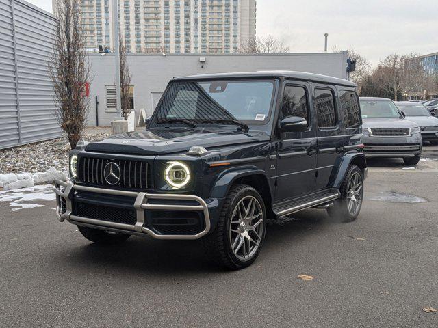
[[[433,145],[438,144],[438,118],[430,115],[429,111],[420,104],[413,102],[396,102],[396,105],[407,120],[420,126],[423,141],[429,141]]]

